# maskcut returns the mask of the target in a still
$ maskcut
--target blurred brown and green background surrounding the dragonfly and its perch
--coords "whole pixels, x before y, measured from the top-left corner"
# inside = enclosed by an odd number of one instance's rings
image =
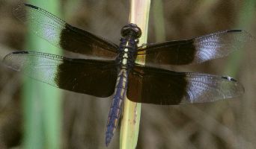
[[[1,58],[10,51],[34,49],[29,48],[31,39],[43,40],[30,37],[28,28],[13,16],[13,8],[21,2],[0,0]],[[31,3],[117,44],[129,17],[129,1],[124,0]],[[152,0],[148,42],[189,39],[226,29],[243,29],[256,36],[255,14],[253,0]],[[255,43],[227,58],[182,69],[234,77],[245,87],[241,98],[181,106],[142,104],[137,148],[256,148]],[[46,42],[40,43],[39,50],[55,53],[53,48]],[[48,85],[48,91],[39,93],[43,83],[29,85],[23,80],[27,79],[20,73],[0,65],[0,148],[106,148],[110,98],[52,91]],[[109,148],[119,148],[119,130]]]

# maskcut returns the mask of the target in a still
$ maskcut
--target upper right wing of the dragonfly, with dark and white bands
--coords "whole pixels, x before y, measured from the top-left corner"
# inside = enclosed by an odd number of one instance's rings
[[[138,51],[146,54],[145,65],[189,65],[226,57],[252,39],[246,31],[228,30],[193,39],[148,44]]]

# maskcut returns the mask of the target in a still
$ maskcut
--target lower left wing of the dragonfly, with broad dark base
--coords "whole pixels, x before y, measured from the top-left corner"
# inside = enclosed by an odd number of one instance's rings
[[[7,54],[4,65],[60,89],[109,97],[115,89],[115,61],[69,59],[33,51]]]

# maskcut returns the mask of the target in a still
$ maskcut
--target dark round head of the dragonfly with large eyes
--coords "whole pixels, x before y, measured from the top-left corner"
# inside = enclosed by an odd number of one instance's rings
[[[133,23],[129,23],[121,29],[121,35],[122,37],[135,37],[138,39],[141,37],[141,28],[138,28],[138,26]]]

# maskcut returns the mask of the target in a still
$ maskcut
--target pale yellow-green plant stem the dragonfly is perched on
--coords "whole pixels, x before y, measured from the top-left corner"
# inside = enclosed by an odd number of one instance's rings
[[[150,0],[131,0],[129,22],[141,28],[140,44],[147,42],[147,27],[150,10]],[[137,57],[136,61],[144,63],[144,57]],[[128,80],[129,81],[129,80]],[[121,149],[136,148],[138,142],[141,104],[124,99],[123,119],[121,121]]]

